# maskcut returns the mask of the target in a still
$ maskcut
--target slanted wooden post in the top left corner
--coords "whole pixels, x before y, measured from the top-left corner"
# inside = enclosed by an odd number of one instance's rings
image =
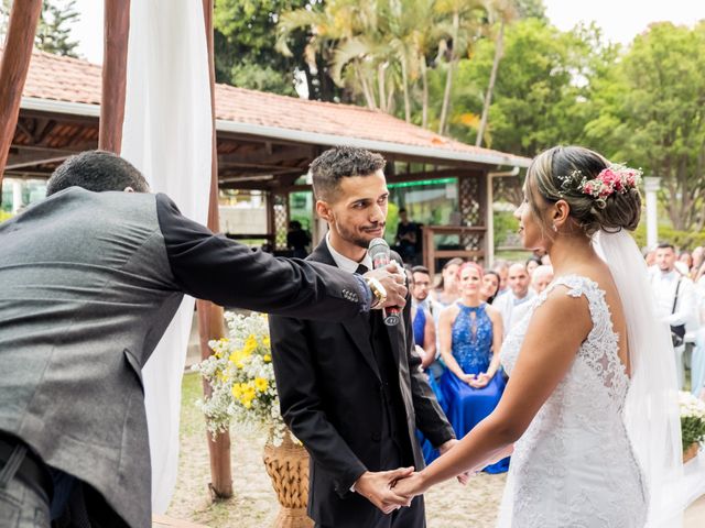
[[[8,153],[20,116],[22,90],[30,69],[36,24],[42,11],[42,0],[23,0],[12,3],[8,35],[0,64],[0,202],[2,201],[2,175]]]

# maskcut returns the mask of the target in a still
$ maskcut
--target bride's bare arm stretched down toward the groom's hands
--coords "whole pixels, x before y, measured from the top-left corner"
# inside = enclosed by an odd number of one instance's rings
[[[585,297],[554,289],[534,311],[505,394],[495,411],[433,464],[401,481],[400,494],[417,495],[464,471],[501,458],[527,430],[544,402],[565,377],[592,328]],[[556,331],[560,329],[560,331]],[[550,338],[549,338],[550,337]]]

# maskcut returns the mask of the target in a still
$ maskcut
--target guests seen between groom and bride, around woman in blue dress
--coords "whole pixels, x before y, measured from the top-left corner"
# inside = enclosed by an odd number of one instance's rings
[[[427,268],[410,270],[414,340],[422,366],[458,438],[487,417],[501,398],[507,377],[499,352],[507,332],[528,312],[530,300],[553,280],[546,255],[528,262],[499,261],[485,271],[452,258],[432,287]],[[438,453],[420,438],[426,462]],[[509,459],[485,468],[509,469]]]

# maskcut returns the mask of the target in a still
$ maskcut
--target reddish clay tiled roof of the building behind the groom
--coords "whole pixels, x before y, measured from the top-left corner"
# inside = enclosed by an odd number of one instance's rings
[[[101,67],[86,61],[34,52],[23,96],[43,100],[100,105]],[[216,86],[216,119],[241,125],[434,148],[525,166],[528,160],[480,148],[377,110],[310,101],[262,91]],[[429,151],[425,151],[429,152]],[[441,152],[440,152],[441,153]]]

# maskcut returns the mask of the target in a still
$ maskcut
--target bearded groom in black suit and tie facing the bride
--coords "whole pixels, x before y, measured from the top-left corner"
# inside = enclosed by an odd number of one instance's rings
[[[350,147],[312,163],[329,231],[307,260],[350,273],[371,267],[367,248],[387,218],[383,167],[379,154]],[[423,468],[416,428],[442,451],[456,440],[419,369],[410,307],[393,327],[379,312],[343,323],[270,318],[281,409],[311,454],[308,515],[318,527],[425,526],[423,497],[401,507],[409,503],[393,483]]]

